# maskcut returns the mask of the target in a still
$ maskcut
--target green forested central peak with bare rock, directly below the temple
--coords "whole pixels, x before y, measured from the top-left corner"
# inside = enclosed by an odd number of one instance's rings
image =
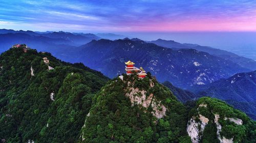
[[[190,141],[186,109],[154,78],[115,78],[94,98],[80,142]]]

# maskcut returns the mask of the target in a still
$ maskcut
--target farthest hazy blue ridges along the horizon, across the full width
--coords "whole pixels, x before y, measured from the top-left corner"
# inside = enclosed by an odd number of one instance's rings
[[[11,33],[13,33],[13,39],[8,39],[5,38],[5,36],[10,35]],[[77,47],[86,43],[89,43],[92,40],[99,40],[101,38],[105,38],[105,39],[110,39],[110,40],[117,40],[117,39],[124,39],[127,36],[123,36],[123,35],[116,35],[116,34],[84,34],[84,33],[69,33],[69,32],[33,32],[33,31],[14,31],[14,30],[6,30],[6,29],[0,29],[0,34],[2,35],[2,40],[3,40],[3,46],[0,47],[0,52],[3,52],[7,49],[5,49],[6,47],[10,47],[11,45],[13,45],[14,43],[33,43],[31,46],[32,47],[42,47],[42,48],[37,48],[38,50],[44,49],[44,51],[49,51],[52,52],[55,56],[57,56],[58,58],[62,58],[62,55],[57,54],[57,52],[55,51],[55,49],[58,47],[60,48],[64,48],[65,51],[67,52],[73,52],[72,50],[68,50],[68,47]],[[17,34],[17,35],[16,35]],[[30,36],[33,36],[30,38],[30,40],[24,39],[22,37],[20,37],[20,34],[27,34]],[[19,35],[19,36],[18,36]],[[26,36],[25,36],[26,37]],[[47,37],[47,38],[51,38],[49,41],[48,40],[44,40],[41,41],[40,39],[42,37]],[[5,42],[5,40],[9,41],[9,42]],[[60,42],[62,40],[62,42]],[[138,38],[131,38],[130,40],[132,41],[142,41]],[[1,41],[1,38],[0,38]],[[179,49],[196,49],[198,51],[204,51],[207,53],[210,53],[211,55],[215,55],[218,56],[222,59],[226,59],[226,60],[230,60],[233,63],[237,63],[239,64],[241,67],[244,67],[246,69],[250,69],[250,70],[256,70],[256,61],[248,59],[248,58],[244,58],[242,56],[238,56],[237,54],[225,51],[225,50],[220,50],[220,49],[215,49],[215,48],[211,48],[208,46],[200,46],[197,44],[181,44],[178,42],[175,42],[173,40],[162,40],[162,39],[158,39],[156,41],[147,41],[148,43],[155,43],[157,45],[163,46],[163,47],[168,47],[168,48],[172,48],[175,50],[179,50]],[[37,44],[38,43],[38,44]],[[61,44],[61,45],[60,45]],[[57,50],[58,51],[58,50]],[[66,53],[63,53],[66,54]],[[72,62],[72,61],[71,61]]]

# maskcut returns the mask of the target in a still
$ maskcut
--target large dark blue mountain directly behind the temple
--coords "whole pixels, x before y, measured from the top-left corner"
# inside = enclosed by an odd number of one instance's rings
[[[173,50],[132,40],[93,40],[80,47],[74,62],[82,62],[109,77],[124,72],[123,62],[131,60],[159,79],[179,88],[207,84],[234,73],[248,71],[231,61],[194,49]]]

